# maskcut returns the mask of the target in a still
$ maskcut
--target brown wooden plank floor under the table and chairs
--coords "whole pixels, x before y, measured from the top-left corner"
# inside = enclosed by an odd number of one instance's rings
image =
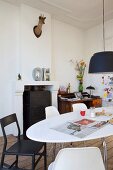
[[[16,138],[13,135],[9,135],[8,137],[9,139],[9,146],[15,142]],[[106,142],[107,142],[107,150],[108,150],[108,170],[113,170],[113,136],[107,137],[106,138]],[[82,146],[97,146],[101,149],[102,151],[102,146],[101,146],[101,140],[91,140],[91,141],[87,141],[85,143],[83,142],[76,142],[73,143],[73,147],[82,147]],[[59,150],[59,144],[57,145],[57,152]],[[3,147],[3,138],[0,137],[0,156],[2,153],[2,147]],[[65,144],[65,147],[70,147],[70,144]],[[48,157],[47,157],[47,162],[48,165],[51,163],[52,161],[52,157],[53,154],[50,151],[51,145],[48,144],[47,145],[47,153],[48,153]],[[13,161],[14,157],[13,156],[8,156],[6,157],[6,163],[11,163]],[[21,168],[25,168],[25,169],[30,169],[31,168],[31,159],[28,157],[21,157],[19,158],[19,167]],[[37,170],[43,170],[43,160],[40,161],[40,163],[37,165],[36,167]]]

